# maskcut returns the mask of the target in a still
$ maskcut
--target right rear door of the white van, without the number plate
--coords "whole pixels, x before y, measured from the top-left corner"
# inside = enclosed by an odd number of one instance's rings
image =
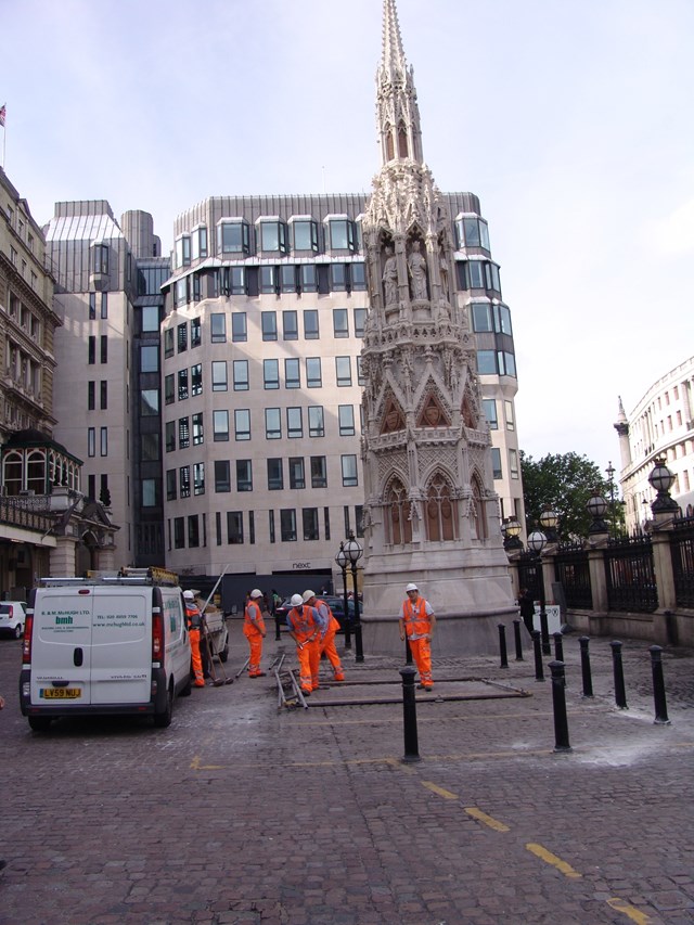
[[[152,588],[93,589],[91,703],[146,704],[152,675]]]

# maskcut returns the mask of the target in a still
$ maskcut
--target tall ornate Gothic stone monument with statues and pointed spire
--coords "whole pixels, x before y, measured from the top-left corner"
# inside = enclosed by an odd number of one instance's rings
[[[362,222],[371,304],[362,349],[364,622],[373,617],[380,628],[372,648],[387,651],[381,621],[397,616],[408,581],[422,581],[444,627],[451,620],[453,651],[455,620],[476,619],[480,602],[498,619],[514,612],[513,598],[452,222],[422,158],[395,0],[383,5],[376,97],[382,166]],[[473,651],[470,624],[465,634]],[[478,648],[497,635],[493,621],[481,626]]]

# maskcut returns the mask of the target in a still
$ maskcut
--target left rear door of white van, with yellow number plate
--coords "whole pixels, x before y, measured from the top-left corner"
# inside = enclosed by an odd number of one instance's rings
[[[83,586],[36,592],[30,702],[35,706],[91,703],[92,594]]]

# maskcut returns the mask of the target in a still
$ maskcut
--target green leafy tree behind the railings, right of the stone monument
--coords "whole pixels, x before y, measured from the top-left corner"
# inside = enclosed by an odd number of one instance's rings
[[[549,454],[537,462],[520,451],[523,472],[523,498],[528,534],[540,527],[540,514],[550,506],[560,517],[558,532],[563,540],[587,537],[591,524],[588,499],[597,490],[608,502],[612,500],[611,485],[599,466],[588,457],[578,453]],[[615,493],[615,486],[612,486]],[[615,501],[606,519],[616,521],[615,532],[620,531],[624,521],[621,502]]]

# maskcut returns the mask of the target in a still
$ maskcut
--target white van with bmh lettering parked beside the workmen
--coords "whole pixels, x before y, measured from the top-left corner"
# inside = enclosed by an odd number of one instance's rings
[[[191,646],[181,589],[153,571],[43,578],[30,592],[20,704],[33,730],[87,714],[171,722],[176,695],[191,692]]]

